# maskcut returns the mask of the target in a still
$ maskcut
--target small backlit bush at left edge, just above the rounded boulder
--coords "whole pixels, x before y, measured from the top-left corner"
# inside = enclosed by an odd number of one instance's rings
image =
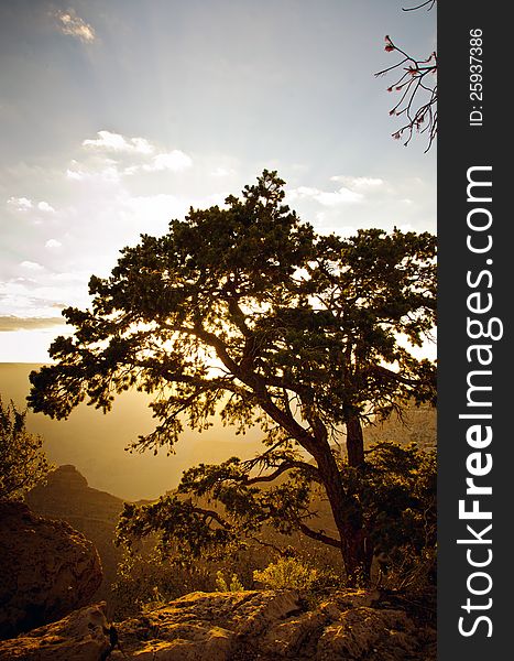
[[[50,470],[43,440],[26,431],[25,415],[0,397],[0,499],[22,498]]]

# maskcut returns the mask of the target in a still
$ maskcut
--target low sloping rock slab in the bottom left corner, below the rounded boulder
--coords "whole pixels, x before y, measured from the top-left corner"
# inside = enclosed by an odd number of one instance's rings
[[[0,661],[101,661],[112,649],[105,603],[0,642]]]

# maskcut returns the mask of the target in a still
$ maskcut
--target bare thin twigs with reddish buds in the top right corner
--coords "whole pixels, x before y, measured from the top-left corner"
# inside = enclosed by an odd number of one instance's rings
[[[403,11],[416,11],[428,8],[430,11],[436,0],[426,0],[416,7]],[[384,76],[393,71],[400,71],[400,78],[387,87],[387,91],[400,93],[400,100],[390,110],[390,115],[404,117],[405,123],[393,133],[393,138],[400,140],[406,136],[407,145],[415,131],[427,133],[428,151],[437,136],[437,53],[434,51],[425,59],[414,57],[400,48],[389,34],[385,35],[385,51],[395,53],[401,59],[392,66],[376,73],[375,76]]]

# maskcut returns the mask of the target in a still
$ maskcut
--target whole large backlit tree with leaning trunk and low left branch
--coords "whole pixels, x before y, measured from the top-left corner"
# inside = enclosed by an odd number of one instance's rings
[[[158,530],[196,554],[255,537],[264,522],[299,529],[340,550],[352,584],[370,546],[333,444],[346,431],[359,468],[362,422],[434,397],[434,365],[400,343],[419,345],[434,325],[434,258],[428,234],[318,236],[264,171],[241,199],[192,208],[167,235],[124,248],[110,278],[92,277],[91,308],[64,311],[75,335],[53,343],[55,365],[31,373],[30,404],[61,419],[85,398],[108,411],[118,392],[152,393],[158,423],[140,451],[173,447],[184,424],[201,431],[216,414],[238,432],[260,425],[256,458],[192,468],[144,514],[128,506],[127,528]],[[307,525],[310,485],[326,494],[337,537]]]

